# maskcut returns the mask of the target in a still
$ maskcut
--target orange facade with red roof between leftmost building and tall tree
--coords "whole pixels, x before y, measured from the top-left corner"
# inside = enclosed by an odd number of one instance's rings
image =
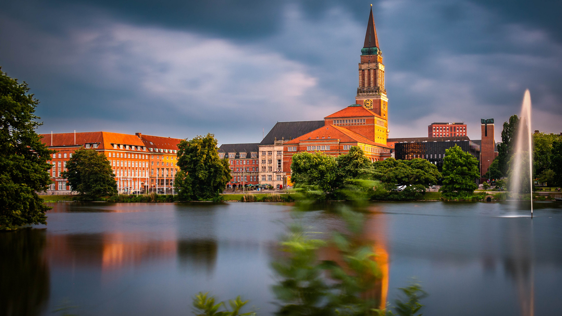
[[[178,145],[183,139],[141,133],[137,133],[137,136],[142,139],[143,146],[149,153],[150,170],[147,189],[158,194],[174,193],[175,175],[179,170]]]

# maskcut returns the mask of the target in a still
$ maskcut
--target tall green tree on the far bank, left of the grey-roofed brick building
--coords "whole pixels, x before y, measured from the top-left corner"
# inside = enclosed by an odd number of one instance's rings
[[[182,141],[178,149],[177,165],[182,172],[175,183],[178,197],[198,201],[218,198],[231,177],[228,157],[219,158],[214,134]]]

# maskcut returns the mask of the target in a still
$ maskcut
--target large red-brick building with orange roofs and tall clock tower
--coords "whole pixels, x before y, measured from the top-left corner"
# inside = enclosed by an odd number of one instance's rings
[[[337,156],[347,154],[352,146],[359,146],[371,161],[391,156],[387,146],[388,98],[384,88],[384,65],[372,9],[361,49],[355,102],[326,116],[323,127],[283,143],[283,170],[287,183],[291,183],[292,156],[297,152],[321,151]]]

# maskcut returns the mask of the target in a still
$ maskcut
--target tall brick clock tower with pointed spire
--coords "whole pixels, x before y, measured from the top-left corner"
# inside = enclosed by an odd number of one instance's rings
[[[359,63],[359,88],[355,103],[373,111],[384,120],[388,121],[388,98],[384,89],[383,55],[379,48],[377,29],[373,19],[373,6],[369,14],[365,43],[361,49],[361,62]],[[388,126],[388,125],[387,125]]]

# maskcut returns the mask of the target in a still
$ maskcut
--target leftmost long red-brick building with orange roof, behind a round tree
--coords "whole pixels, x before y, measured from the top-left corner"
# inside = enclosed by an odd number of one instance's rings
[[[140,137],[129,134],[108,132],[41,134],[41,141],[53,154],[50,171],[49,191],[69,191],[67,180],[61,177],[66,170],[66,162],[74,151],[90,148],[107,156],[114,170],[117,189],[120,193],[131,193],[147,188],[148,149]]]

